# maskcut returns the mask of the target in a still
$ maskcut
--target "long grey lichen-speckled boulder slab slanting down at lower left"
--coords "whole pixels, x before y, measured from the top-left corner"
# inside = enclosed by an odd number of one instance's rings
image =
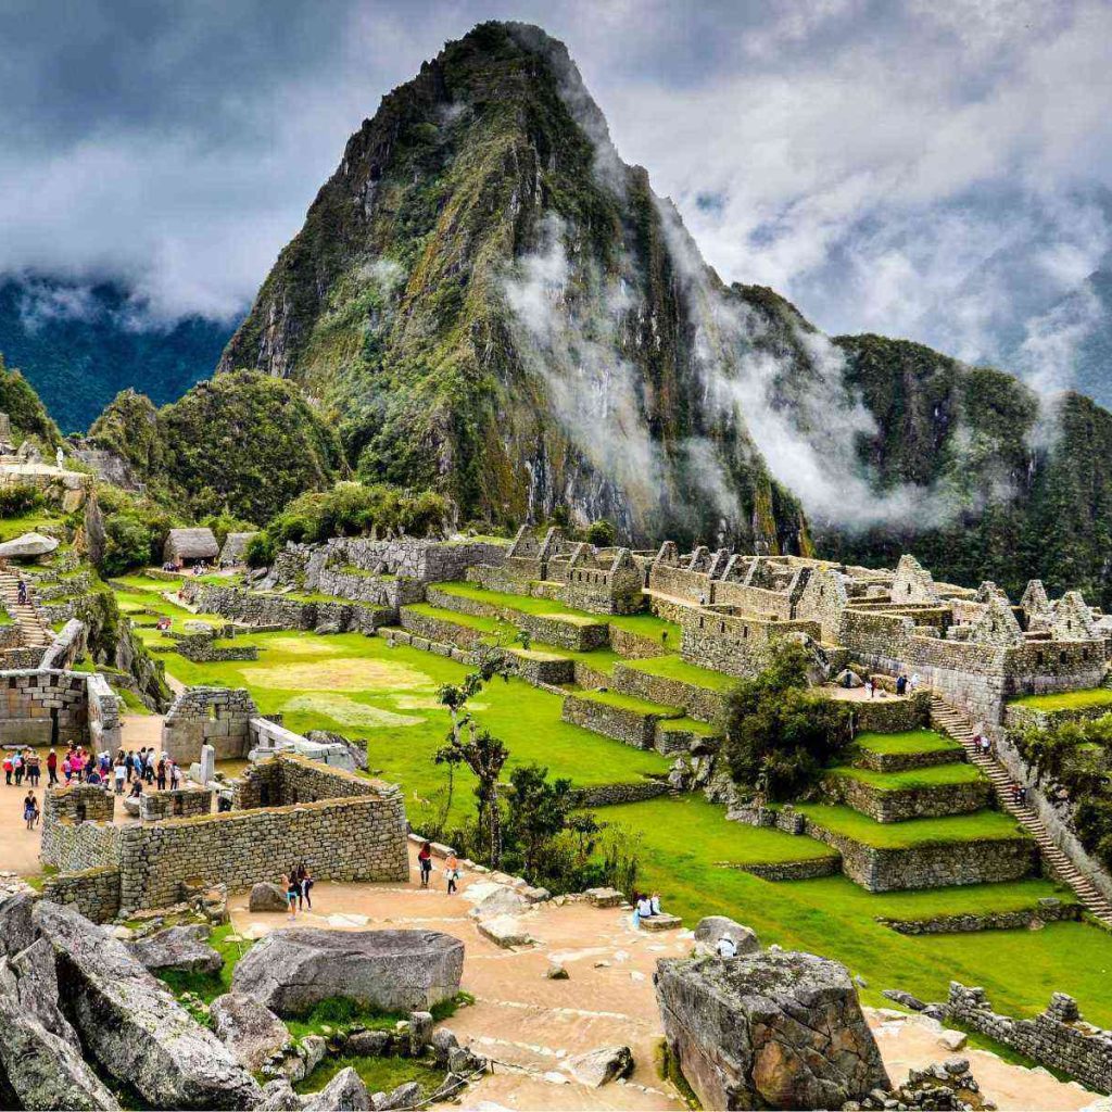
[[[70,907],[40,901],[32,922],[54,951],[67,1014],[86,1051],[152,1108],[244,1109],[255,1079],[122,942]]]

